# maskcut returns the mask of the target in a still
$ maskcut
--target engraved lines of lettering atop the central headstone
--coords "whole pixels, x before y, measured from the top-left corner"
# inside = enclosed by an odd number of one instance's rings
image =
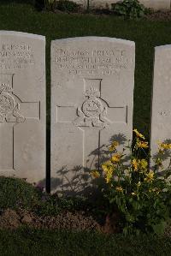
[[[57,48],[55,53],[56,68],[61,72],[78,75],[115,75],[127,70],[131,59],[127,51],[115,47],[113,49],[92,49],[73,51]]]

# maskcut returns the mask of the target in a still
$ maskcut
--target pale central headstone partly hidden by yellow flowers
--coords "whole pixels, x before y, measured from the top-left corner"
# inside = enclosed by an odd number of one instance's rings
[[[85,37],[51,45],[51,189],[77,193],[114,135],[132,139],[134,43]]]

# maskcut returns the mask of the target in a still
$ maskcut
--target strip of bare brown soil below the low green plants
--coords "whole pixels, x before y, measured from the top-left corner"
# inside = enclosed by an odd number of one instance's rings
[[[99,230],[100,225],[84,211],[63,211],[57,216],[39,217],[24,210],[6,209],[0,215],[0,229],[17,229],[22,225],[41,229]]]

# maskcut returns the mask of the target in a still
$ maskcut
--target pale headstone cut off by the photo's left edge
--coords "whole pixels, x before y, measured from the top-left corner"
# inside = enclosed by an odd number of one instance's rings
[[[0,31],[0,176],[45,179],[45,38]]]

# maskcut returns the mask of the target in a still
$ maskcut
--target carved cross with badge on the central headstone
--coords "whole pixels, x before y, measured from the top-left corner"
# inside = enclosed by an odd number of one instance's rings
[[[109,104],[103,100],[101,95],[102,80],[103,79],[83,79],[83,95],[85,98],[79,107],[75,108],[74,105],[68,106],[64,104],[56,106],[56,122],[69,122],[68,118],[62,120],[62,116],[68,116],[69,110],[75,110],[78,116],[73,122],[70,121],[70,123],[80,128],[83,133],[84,148],[82,166],[85,166],[85,168],[95,168],[94,164],[97,165],[97,163],[99,163],[99,154],[96,157],[91,156],[89,163],[87,163],[87,155],[95,149],[97,149],[97,151],[99,150],[98,147],[100,145],[98,141],[100,140],[101,131],[104,128],[108,128],[113,122],[127,123],[127,106],[109,106]],[[109,112],[112,120],[108,119]],[[121,116],[119,116],[118,113]],[[94,138],[94,140],[92,140],[92,138]]]

